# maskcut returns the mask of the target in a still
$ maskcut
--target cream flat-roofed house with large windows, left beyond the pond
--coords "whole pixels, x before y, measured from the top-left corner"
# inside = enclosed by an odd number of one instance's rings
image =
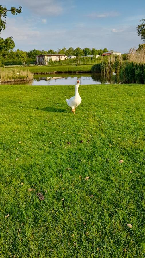
[[[49,61],[67,60],[68,56],[59,54],[42,54],[36,56],[37,64],[48,64]]]

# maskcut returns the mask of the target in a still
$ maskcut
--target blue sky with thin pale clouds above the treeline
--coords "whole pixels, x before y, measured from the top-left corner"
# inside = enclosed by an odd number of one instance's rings
[[[58,50],[81,47],[128,52],[141,41],[136,27],[145,18],[139,0],[1,0],[1,5],[23,11],[8,12],[2,38],[13,37],[15,50]]]

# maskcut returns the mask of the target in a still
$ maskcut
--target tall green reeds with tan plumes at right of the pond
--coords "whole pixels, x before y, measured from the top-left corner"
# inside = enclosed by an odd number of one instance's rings
[[[92,66],[92,73],[119,74],[122,83],[145,83],[145,51],[136,52],[124,56],[109,56],[99,64]]]

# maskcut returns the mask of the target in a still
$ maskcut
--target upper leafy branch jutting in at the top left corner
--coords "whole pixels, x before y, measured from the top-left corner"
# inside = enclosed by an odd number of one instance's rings
[[[5,30],[6,20],[2,20],[2,18],[7,16],[7,12],[11,12],[13,15],[17,15],[18,13],[22,12],[22,7],[20,6],[19,9],[11,7],[10,10],[7,10],[7,7],[0,5],[0,32]]]

